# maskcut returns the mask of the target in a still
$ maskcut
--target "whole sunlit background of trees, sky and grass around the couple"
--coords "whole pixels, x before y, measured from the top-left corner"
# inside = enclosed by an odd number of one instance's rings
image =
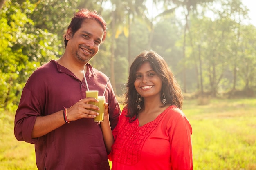
[[[96,10],[107,37],[90,64],[120,104],[143,50],[159,53],[184,94],[195,170],[256,170],[254,0],[0,0],[0,169],[34,170],[34,146],[16,141],[13,119],[33,71],[65,50],[81,8]],[[92,89],[93,90],[93,89]]]

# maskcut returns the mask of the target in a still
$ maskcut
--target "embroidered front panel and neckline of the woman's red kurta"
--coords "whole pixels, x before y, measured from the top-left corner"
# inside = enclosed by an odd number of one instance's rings
[[[129,118],[125,117],[119,127],[114,145],[112,146],[113,161],[125,165],[134,165],[141,159],[141,150],[146,139],[155,130],[161,119],[171,108],[168,107],[155,120],[139,126],[139,121],[129,123]]]

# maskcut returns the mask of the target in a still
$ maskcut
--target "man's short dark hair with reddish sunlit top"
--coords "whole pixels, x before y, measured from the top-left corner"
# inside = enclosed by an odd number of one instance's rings
[[[107,26],[106,26],[106,22],[103,19],[103,17],[101,15],[99,15],[96,11],[89,11],[88,9],[81,9],[80,11],[75,13],[75,15],[72,18],[70,25],[67,27],[67,29],[71,28],[72,35],[74,35],[74,33],[76,33],[76,31],[81,28],[83,21],[86,19],[93,19],[101,25],[101,27],[104,31],[103,38],[102,38],[102,42],[103,42],[106,38]],[[68,42],[68,40],[66,39],[66,33],[63,35],[63,38],[64,38],[64,44],[66,47],[67,42]]]

